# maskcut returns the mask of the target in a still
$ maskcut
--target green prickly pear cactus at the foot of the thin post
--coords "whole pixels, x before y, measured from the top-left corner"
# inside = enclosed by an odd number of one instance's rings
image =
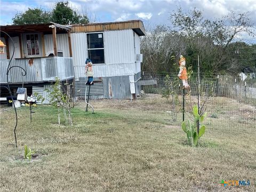
[[[188,120],[187,124],[185,122],[182,122],[181,127],[182,127],[182,130],[185,133],[187,133],[189,145],[197,146],[199,138],[201,138],[205,132],[205,125],[200,125],[199,131],[197,133],[197,122],[199,121],[200,123],[202,123],[204,121],[204,117],[206,116],[206,113],[204,115],[200,116],[198,114],[197,106],[194,106],[193,107],[193,115],[195,117],[194,123],[191,123]]]

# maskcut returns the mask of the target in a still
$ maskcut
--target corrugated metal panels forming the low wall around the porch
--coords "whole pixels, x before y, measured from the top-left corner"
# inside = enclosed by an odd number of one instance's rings
[[[20,68],[12,68],[9,73],[9,82],[43,82],[53,81],[54,77],[61,80],[74,78],[74,68],[72,58],[35,58],[33,64],[29,65],[29,59],[13,59],[11,66],[17,65],[27,71],[26,76],[22,76]],[[6,70],[9,60],[0,60],[1,83],[7,82]]]

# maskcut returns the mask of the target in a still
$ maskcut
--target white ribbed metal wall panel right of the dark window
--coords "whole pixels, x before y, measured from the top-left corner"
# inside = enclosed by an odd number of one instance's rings
[[[133,63],[133,30],[116,30],[104,32],[105,63]]]

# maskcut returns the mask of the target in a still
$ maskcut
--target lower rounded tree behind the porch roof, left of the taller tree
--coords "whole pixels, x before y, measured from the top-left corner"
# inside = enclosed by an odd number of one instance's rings
[[[24,13],[15,14],[12,21],[14,25],[49,23],[51,21],[51,13],[44,11],[42,8],[28,8]]]

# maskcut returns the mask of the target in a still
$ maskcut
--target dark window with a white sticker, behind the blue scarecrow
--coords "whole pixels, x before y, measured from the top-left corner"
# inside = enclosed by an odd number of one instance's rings
[[[93,64],[105,63],[103,33],[87,34],[87,51]]]

